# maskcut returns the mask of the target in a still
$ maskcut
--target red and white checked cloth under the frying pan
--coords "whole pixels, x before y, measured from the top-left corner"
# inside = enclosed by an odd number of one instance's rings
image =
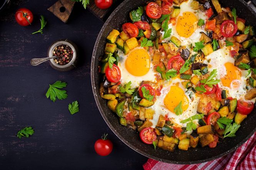
[[[236,151],[205,163],[179,165],[149,158],[144,170],[256,170],[256,133]]]

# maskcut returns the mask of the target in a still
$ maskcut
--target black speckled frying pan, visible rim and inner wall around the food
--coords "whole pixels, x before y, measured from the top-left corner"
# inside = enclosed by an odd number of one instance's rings
[[[99,107],[102,117],[115,135],[117,135],[117,137],[119,137],[120,140],[122,140],[126,145],[142,155],[155,160],[167,163],[194,164],[214,160],[234,151],[241,144],[246,142],[246,140],[248,140],[248,138],[251,137],[256,131],[255,109],[241,123],[241,127],[236,132],[236,137],[220,139],[217,147],[189,148],[187,151],[177,149],[174,152],[169,152],[160,148],[154,150],[152,145],[142,143],[138,132],[120,125],[117,115],[110,111],[110,109],[107,107],[106,100],[100,97],[99,84],[102,82],[102,75],[99,73],[98,66],[99,57],[104,55],[106,37],[110,31],[112,31],[112,29],[120,30],[123,23],[128,21],[130,22],[129,12],[139,6],[146,5],[147,1],[149,0],[125,0],[114,10],[100,30],[92,54],[91,80],[95,101]],[[246,24],[255,26],[256,12],[249,7],[246,2],[243,0],[219,0],[219,2],[223,5],[223,7],[236,8],[238,16],[246,19]]]

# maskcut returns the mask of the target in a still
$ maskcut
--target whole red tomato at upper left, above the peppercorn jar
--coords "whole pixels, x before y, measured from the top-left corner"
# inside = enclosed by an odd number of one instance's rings
[[[27,8],[20,8],[15,13],[15,19],[21,26],[31,25],[33,18],[33,13]]]

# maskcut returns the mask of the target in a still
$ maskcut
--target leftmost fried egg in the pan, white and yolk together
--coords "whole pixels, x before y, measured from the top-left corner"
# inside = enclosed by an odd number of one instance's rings
[[[121,71],[120,82],[126,84],[132,82],[132,88],[140,86],[142,81],[156,82],[156,71],[151,62],[148,52],[141,47],[134,48],[129,54],[125,55],[118,51],[120,61],[118,66]]]

